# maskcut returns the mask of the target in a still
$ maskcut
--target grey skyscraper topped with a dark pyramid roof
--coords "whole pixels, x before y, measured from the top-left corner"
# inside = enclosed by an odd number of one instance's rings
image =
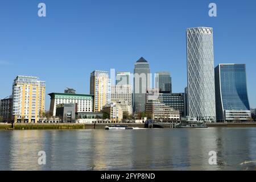
[[[135,113],[145,111],[146,90],[150,88],[150,67],[141,57],[134,67],[133,110]]]

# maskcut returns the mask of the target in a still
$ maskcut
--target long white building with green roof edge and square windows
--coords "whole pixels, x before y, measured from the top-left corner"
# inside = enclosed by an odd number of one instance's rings
[[[74,94],[74,93],[49,93],[51,104],[49,113],[56,115],[58,104],[77,104],[78,112],[93,111],[93,95],[90,94]]]

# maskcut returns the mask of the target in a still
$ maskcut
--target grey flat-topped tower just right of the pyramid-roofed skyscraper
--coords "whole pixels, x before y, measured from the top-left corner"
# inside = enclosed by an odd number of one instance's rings
[[[170,72],[157,72],[155,77],[155,88],[160,92],[172,93],[172,80]]]

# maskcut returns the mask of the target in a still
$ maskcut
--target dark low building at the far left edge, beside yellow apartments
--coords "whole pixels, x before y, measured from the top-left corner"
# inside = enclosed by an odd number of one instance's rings
[[[13,98],[12,96],[4,98],[0,101],[0,122],[11,123],[13,117],[11,115],[13,109]]]

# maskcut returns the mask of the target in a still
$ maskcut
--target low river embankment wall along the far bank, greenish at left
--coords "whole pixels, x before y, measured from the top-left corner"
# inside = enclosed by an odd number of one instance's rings
[[[144,123],[96,123],[95,129],[104,129],[105,126],[126,125],[130,127],[144,128]],[[251,123],[206,123],[208,127],[256,127],[256,122]],[[166,127],[169,128],[169,127]],[[77,130],[94,129],[94,124],[81,123],[16,123],[0,124],[0,130]]]

